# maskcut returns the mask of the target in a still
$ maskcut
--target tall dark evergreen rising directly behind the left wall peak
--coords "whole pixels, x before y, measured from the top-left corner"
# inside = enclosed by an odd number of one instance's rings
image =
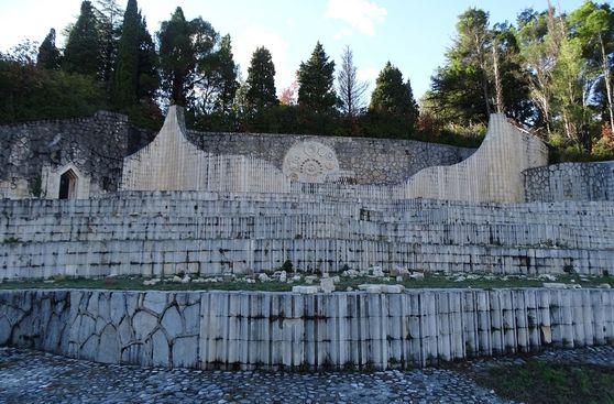
[[[197,66],[211,56],[218,34],[200,18],[187,21],[178,7],[171,20],[162,23],[157,36],[163,89],[171,102],[185,106],[199,79]]]

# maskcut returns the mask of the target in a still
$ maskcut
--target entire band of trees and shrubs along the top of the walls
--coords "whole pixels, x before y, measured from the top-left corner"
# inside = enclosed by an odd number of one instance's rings
[[[296,81],[275,87],[273,55],[254,50],[243,80],[230,35],[180,8],[152,36],[136,0],[83,1],[56,46],[51,30],[0,54],[0,123],[90,114],[105,108],[157,128],[168,103],[187,108],[205,131],[320,133],[418,139],[476,146],[489,116],[533,129],[555,160],[614,157],[614,10],[586,0],[569,14],[525,10],[492,23],[487,12],[459,15],[457,35],[431,88],[414,98],[387,63],[371,99],[347,47],[336,66],[321,43]],[[336,72],[337,70],[337,72]]]

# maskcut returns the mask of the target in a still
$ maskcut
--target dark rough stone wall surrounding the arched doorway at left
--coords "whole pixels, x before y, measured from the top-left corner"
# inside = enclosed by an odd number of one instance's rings
[[[128,117],[105,111],[88,118],[0,125],[0,198],[41,197],[44,170],[70,164],[91,178],[89,195],[116,192],[123,157],[152,139],[152,133],[132,128]]]

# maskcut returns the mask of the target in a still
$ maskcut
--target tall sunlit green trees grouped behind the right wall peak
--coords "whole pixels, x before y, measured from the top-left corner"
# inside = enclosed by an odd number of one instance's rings
[[[457,32],[423,100],[428,130],[483,125],[502,112],[541,135],[555,160],[614,159],[611,6],[525,10],[515,25],[470,9]]]

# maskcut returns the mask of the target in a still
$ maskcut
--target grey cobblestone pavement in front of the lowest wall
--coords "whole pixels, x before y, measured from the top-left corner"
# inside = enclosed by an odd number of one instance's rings
[[[614,348],[548,351],[544,360],[614,365]],[[468,367],[518,362],[476,360]],[[0,403],[505,403],[453,370],[273,373],[105,365],[0,349]]]

